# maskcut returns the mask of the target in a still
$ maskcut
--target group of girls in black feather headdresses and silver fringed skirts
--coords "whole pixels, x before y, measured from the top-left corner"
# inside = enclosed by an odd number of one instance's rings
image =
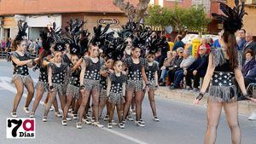
[[[62,125],[78,119],[77,128],[94,124],[102,128],[99,118],[107,107],[108,128],[112,129],[114,110],[117,109],[119,128],[125,128],[125,120],[136,112],[135,124],[145,126],[142,119],[144,95],[153,112],[153,120],[160,121],[156,114],[154,90],[158,88],[158,62],[154,54],[159,49],[160,38],[149,39],[152,31],[143,24],[129,20],[119,32],[108,32],[109,25],[94,27],[94,35],[83,30],[84,21],[70,20],[65,29],[53,27],[41,32],[43,51],[32,59],[26,51],[26,22],[18,22],[19,32],[15,37],[11,53],[14,65],[14,84],[17,89],[11,116],[17,117],[17,107],[27,89],[24,111],[31,118],[39,102],[47,92],[44,101],[43,121],[47,122],[52,105],[55,115],[62,118]],[[28,68],[39,72],[35,101],[32,110],[29,105],[34,95],[34,85]],[[59,95],[61,112],[58,111],[56,95]],[[92,105],[90,105],[90,101]],[[131,105],[136,106],[131,111]],[[90,106],[92,114],[90,116]],[[133,108],[133,107],[132,107]],[[129,117],[130,119],[131,117]]]

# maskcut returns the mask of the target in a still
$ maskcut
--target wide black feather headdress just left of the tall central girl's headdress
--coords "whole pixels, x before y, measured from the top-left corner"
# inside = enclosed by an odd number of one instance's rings
[[[70,22],[67,22],[68,26],[65,27],[66,40],[70,46],[70,53],[73,55],[84,55],[84,52],[87,51],[90,33],[87,30],[81,30],[84,23],[83,20],[70,20]]]

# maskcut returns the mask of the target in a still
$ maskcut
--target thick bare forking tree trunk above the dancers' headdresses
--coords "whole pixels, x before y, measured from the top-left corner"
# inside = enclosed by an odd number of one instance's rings
[[[148,9],[148,3],[150,0],[139,0],[137,7],[133,4],[125,2],[125,0],[113,0],[113,4],[120,10],[125,12],[129,19],[139,22],[146,16],[146,10]]]

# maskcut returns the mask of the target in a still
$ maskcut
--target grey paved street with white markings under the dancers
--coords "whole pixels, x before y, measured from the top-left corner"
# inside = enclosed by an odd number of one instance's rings
[[[201,144],[207,126],[206,108],[195,107],[189,103],[170,101],[156,98],[156,106],[160,122],[152,120],[152,112],[148,99],[143,101],[143,120],[145,128],[137,127],[134,122],[128,121],[125,130],[117,126],[112,130],[99,129],[92,125],[83,125],[82,130],[75,128],[75,121],[67,122],[67,127],[61,125],[61,118],[56,118],[54,112],[49,112],[47,123],[42,122],[44,107],[39,105],[36,113],[36,138],[32,140],[6,139],[6,118],[10,117],[15,97],[15,87],[10,83],[12,78],[11,63],[0,60],[0,144],[70,144],[70,143],[94,143],[94,144]],[[32,78],[37,82],[38,73],[32,72]],[[26,94],[26,91],[25,91]],[[26,95],[23,95],[17,114],[22,118],[28,117],[23,112]],[[45,98],[45,95],[44,95]],[[42,101],[44,101],[44,98]],[[33,101],[32,101],[33,102]],[[30,105],[32,107],[32,104]],[[116,119],[116,118],[115,118]],[[247,117],[239,117],[242,144],[255,144],[256,121],[248,121]],[[102,122],[105,126],[106,122]],[[224,113],[218,126],[218,144],[229,144],[230,129],[225,122]]]

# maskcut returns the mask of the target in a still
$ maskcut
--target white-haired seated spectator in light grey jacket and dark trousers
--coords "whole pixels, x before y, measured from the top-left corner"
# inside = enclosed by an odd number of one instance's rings
[[[169,89],[176,89],[179,87],[180,82],[183,80],[183,72],[195,61],[195,58],[189,52],[189,49],[184,50],[183,61],[180,63],[180,69],[174,74],[174,82]]]

